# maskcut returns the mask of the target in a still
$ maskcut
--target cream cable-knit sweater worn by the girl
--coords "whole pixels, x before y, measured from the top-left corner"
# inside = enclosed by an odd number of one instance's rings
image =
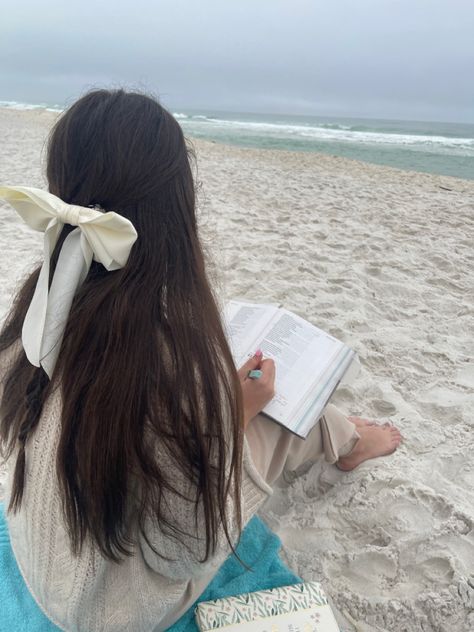
[[[11,543],[21,573],[36,602],[63,630],[74,632],[148,632],[165,630],[201,594],[229,555],[224,537],[213,559],[201,564],[184,547],[150,527],[147,537],[162,560],[144,541],[120,564],[104,559],[92,544],[79,557],[71,554],[61,511],[55,472],[60,433],[59,389],[44,406],[26,448],[26,486],[21,509],[8,515]],[[10,459],[13,469],[15,457]],[[172,466],[172,464],[170,464]],[[242,479],[244,523],[271,494],[257,472],[245,442]],[[5,503],[9,502],[9,485]],[[186,530],[193,512],[183,501],[172,512]],[[232,507],[230,507],[232,513]],[[201,540],[202,542],[202,540]],[[190,540],[194,550],[196,542]],[[197,544],[199,549],[199,543]],[[196,551],[197,555],[200,551]]]

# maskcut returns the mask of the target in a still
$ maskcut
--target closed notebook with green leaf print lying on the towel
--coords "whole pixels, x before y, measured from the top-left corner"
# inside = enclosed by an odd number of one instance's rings
[[[201,632],[340,632],[318,582],[201,602],[196,623]]]

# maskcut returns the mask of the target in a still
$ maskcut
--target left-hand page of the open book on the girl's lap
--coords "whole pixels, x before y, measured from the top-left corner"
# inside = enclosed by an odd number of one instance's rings
[[[279,311],[277,305],[229,301],[224,308],[224,329],[237,368],[259,348],[265,327]]]

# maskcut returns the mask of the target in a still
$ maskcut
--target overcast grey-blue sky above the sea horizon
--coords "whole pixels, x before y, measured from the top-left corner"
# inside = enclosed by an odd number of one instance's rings
[[[2,0],[0,100],[474,123],[474,0]]]

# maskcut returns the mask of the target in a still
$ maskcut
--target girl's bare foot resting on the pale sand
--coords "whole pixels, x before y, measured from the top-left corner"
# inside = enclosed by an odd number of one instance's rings
[[[345,472],[353,470],[368,459],[392,454],[402,441],[398,428],[390,425],[359,425],[357,432],[360,434],[360,439],[352,452],[341,457],[336,463],[337,467]]]

